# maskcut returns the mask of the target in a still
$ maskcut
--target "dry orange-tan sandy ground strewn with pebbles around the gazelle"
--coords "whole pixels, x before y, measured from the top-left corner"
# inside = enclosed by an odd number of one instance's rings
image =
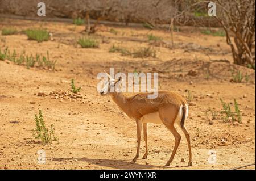
[[[0,28],[44,27],[53,40],[43,43],[27,36],[0,35],[0,49],[9,47],[19,54],[46,54],[57,60],[56,71],[27,69],[10,61],[0,61],[0,169],[233,169],[255,163],[255,71],[235,66],[225,37],[203,35],[200,30],[183,27],[174,33],[175,48],[157,47],[156,58],[133,58],[110,53],[112,45],[127,49],[148,47],[146,35],[153,33],[170,41],[170,33],[145,28],[99,26],[96,38],[100,48],[81,48],[76,40],[84,30],[59,22],[32,22],[1,19]],[[114,28],[114,35],[109,30]],[[179,46],[180,45],[180,46]],[[185,136],[170,167],[174,137],[164,125],[148,128],[149,155],[130,164],[137,147],[136,125],[108,96],[96,90],[98,73],[115,68],[124,73],[135,69],[159,72],[159,89],[176,91],[184,97],[193,95],[189,118],[185,122],[192,141],[193,166],[187,167],[188,148]],[[197,70],[196,76],[188,71]],[[247,73],[248,82],[233,83],[230,69]],[[207,72],[207,73],[206,73]],[[208,79],[207,74],[209,75]],[[71,90],[70,80],[81,86],[82,98],[63,99],[48,95],[52,91]],[[37,96],[43,92],[47,96]],[[224,123],[220,98],[236,99],[242,112],[242,124]],[[233,106],[233,105],[232,105]],[[232,107],[233,109],[233,107]],[[43,111],[44,120],[53,124],[58,141],[40,144],[32,134],[34,115]],[[212,120],[212,111],[216,119]],[[46,151],[46,163],[38,164],[38,150]],[[210,164],[209,151],[216,153]],[[142,140],[141,155],[144,153]],[[184,159],[185,162],[181,162]],[[249,166],[244,169],[255,169]]]

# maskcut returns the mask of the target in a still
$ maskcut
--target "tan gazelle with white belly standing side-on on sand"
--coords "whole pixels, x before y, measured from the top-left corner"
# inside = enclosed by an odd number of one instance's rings
[[[143,155],[142,159],[147,158],[147,123],[155,123],[164,124],[175,137],[174,150],[172,151],[170,159],[166,163],[166,166],[170,166],[181,139],[181,135],[174,127],[174,123],[176,123],[187,138],[189,150],[188,166],[192,166],[190,137],[184,126],[184,122],[188,117],[188,105],[186,100],[175,92],[158,92],[158,97],[155,99],[147,98],[147,95],[150,93],[139,93],[134,96],[127,97],[119,87],[122,77],[119,77],[119,79],[113,79],[108,73],[106,74],[108,75],[109,80],[100,91],[100,94],[112,96],[112,99],[121,108],[121,110],[131,119],[135,120],[137,124],[137,152],[131,163],[135,163],[139,157],[142,124],[144,141],[146,143],[146,153]],[[110,92],[110,87],[115,87],[115,91]]]

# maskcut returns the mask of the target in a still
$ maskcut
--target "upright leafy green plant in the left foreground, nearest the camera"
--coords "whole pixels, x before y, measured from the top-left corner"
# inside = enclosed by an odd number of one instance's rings
[[[39,116],[35,114],[34,120],[36,123],[36,129],[33,131],[33,134],[36,139],[40,139],[42,143],[46,144],[57,140],[57,137],[55,137],[53,132],[53,125],[51,124],[51,127],[46,128],[42,110],[39,110]]]

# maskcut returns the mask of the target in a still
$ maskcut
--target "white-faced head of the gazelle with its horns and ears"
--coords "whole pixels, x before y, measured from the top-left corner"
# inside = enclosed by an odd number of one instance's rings
[[[120,82],[122,80],[122,77],[119,77],[118,79],[114,79],[112,78],[108,73],[106,73],[108,75],[108,82],[106,83],[106,85],[101,89],[100,94],[101,95],[114,95],[115,92],[119,92],[119,86],[120,86]]]

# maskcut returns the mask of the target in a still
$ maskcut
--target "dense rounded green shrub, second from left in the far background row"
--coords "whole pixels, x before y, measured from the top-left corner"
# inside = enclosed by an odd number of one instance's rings
[[[27,29],[24,31],[29,40],[36,40],[38,42],[48,41],[49,32],[42,29]]]

